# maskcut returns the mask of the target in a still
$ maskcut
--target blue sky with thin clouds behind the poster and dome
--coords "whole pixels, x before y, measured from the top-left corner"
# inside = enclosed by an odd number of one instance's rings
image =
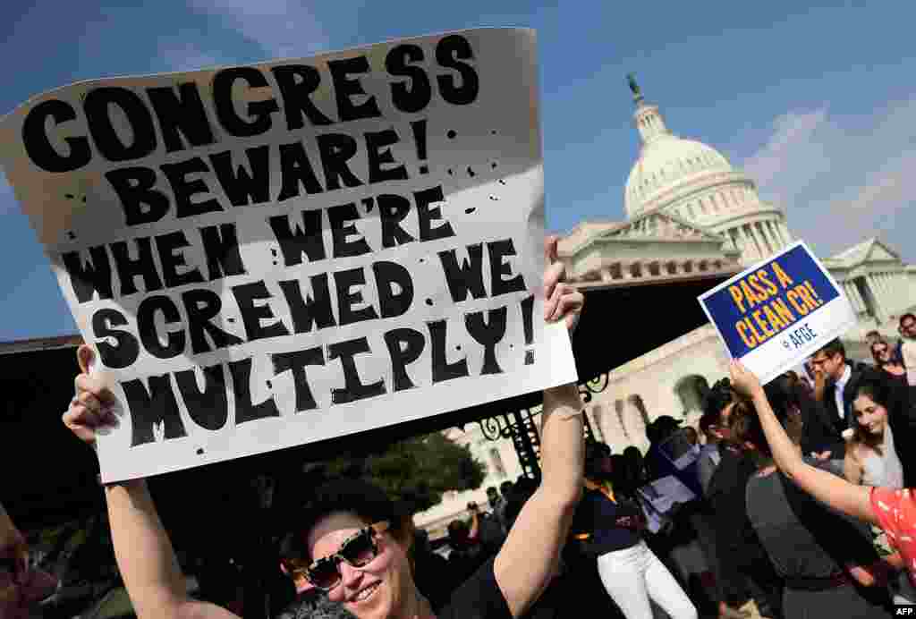
[[[916,4],[800,4],[5,0],[0,114],[82,79],[533,27],[551,228],[623,219],[635,71],[669,127],[745,168],[819,255],[878,236],[916,262]],[[76,331],[2,178],[0,215],[0,341]]]

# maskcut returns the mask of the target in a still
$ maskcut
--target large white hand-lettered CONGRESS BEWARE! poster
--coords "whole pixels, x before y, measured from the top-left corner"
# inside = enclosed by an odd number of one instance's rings
[[[123,409],[104,481],[576,379],[544,326],[535,38],[87,81],[2,161]]]

